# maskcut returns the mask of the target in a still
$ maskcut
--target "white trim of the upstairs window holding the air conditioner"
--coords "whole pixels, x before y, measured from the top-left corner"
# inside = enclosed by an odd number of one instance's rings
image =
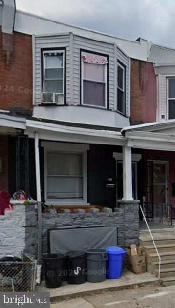
[[[42,86],[42,94],[43,93],[50,93],[50,92],[43,92],[43,88],[44,88],[44,74],[45,74],[45,68],[46,68],[46,61],[45,61],[45,54],[47,53],[51,53],[51,54],[55,54],[55,53],[61,53],[63,54],[63,93],[53,93],[53,101],[55,102],[55,95],[56,94],[60,94],[63,95],[63,105],[64,105],[64,101],[65,101],[65,50],[63,49],[54,49],[54,50],[44,50],[43,51],[43,86]]]

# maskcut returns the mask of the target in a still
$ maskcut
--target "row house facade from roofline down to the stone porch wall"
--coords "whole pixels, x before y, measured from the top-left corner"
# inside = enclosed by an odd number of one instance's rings
[[[0,190],[169,218],[175,50],[0,12]]]

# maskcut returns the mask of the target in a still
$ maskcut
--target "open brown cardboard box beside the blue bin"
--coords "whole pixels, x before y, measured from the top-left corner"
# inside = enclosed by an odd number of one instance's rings
[[[137,247],[138,252],[139,247]],[[131,255],[131,250],[127,250],[128,254],[128,269],[135,274],[146,273],[145,253]]]

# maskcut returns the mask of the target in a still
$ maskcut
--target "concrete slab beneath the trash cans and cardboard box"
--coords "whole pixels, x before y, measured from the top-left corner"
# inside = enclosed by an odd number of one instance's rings
[[[98,294],[105,291],[117,291],[127,288],[159,285],[161,280],[150,273],[136,275],[128,270],[124,270],[120,279],[107,279],[100,283],[86,282],[82,285],[68,285],[66,282],[56,289],[48,289],[44,282],[36,288],[37,292],[50,292],[50,301],[62,301],[67,298],[85,296],[87,294]]]

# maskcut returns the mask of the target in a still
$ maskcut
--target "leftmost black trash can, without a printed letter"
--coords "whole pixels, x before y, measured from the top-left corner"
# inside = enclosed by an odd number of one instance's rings
[[[63,254],[43,255],[43,267],[45,275],[45,286],[48,288],[60,287],[63,278]]]

